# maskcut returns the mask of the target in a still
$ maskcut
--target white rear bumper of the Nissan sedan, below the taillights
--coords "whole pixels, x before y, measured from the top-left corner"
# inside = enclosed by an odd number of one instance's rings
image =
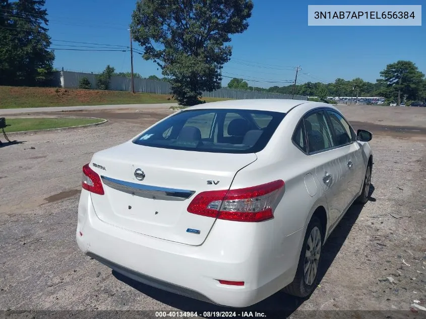
[[[277,244],[272,236],[267,223],[217,221],[200,246],[149,237],[102,222],[86,190],[76,232],[84,253],[126,277],[231,307],[257,303],[293,280],[303,232]],[[219,279],[245,285],[222,285]]]

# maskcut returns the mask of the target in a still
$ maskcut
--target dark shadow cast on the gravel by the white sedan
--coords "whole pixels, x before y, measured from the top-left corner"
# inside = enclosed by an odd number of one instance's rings
[[[376,201],[376,199],[372,198],[371,195],[374,192],[374,186],[370,187],[370,201]],[[345,242],[350,230],[355,224],[363,205],[354,204],[352,205],[345,216],[342,218],[340,223],[331,233],[327,243],[323,249],[323,257],[322,257],[322,266],[319,269],[318,274],[318,282],[320,283],[323,277],[325,276],[327,270],[330,268],[334,259],[337,256],[340,248]],[[277,292],[269,298],[254,304],[247,308],[229,308],[218,306],[214,304],[210,304],[204,301],[199,301],[195,299],[191,299],[188,297],[180,296],[177,294],[169,293],[167,291],[163,291],[151,286],[147,286],[141,284],[133,279],[130,279],[126,276],[123,276],[115,271],[112,271],[113,276],[126,283],[127,285],[137,289],[143,294],[158,300],[164,304],[167,304],[171,307],[177,308],[182,311],[197,311],[198,315],[203,311],[258,311],[268,313],[268,318],[277,317],[277,318],[285,318],[293,313],[302,303],[303,299],[295,298],[289,295],[286,295],[282,292]]]

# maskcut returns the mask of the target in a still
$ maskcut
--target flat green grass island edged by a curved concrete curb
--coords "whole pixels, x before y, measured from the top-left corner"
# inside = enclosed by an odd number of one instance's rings
[[[6,118],[6,133],[32,130],[60,129],[61,127],[99,123],[100,118],[66,118],[66,117],[37,117],[37,118]]]

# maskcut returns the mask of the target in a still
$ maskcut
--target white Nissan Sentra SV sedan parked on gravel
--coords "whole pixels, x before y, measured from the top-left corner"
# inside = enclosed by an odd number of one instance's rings
[[[186,108],[83,167],[77,243],[127,277],[220,305],[308,297],[325,241],[368,201],[371,139],[325,103]]]

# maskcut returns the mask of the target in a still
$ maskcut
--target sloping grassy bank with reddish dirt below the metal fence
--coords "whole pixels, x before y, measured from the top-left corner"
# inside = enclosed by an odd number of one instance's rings
[[[203,98],[206,102],[226,99]],[[59,88],[0,86],[0,109],[52,106],[176,103],[171,95]]]

